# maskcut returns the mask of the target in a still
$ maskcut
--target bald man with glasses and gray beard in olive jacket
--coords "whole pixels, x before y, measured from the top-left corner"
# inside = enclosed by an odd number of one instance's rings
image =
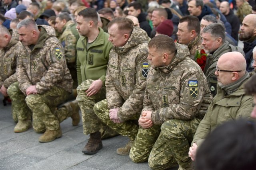
[[[232,61],[232,62],[230,62]],[[217,63],[215,75],[218,78],[217,95],[198,125],[188,155],[195,160],[196,149],[204,138],[218,125],[238,118],[251,118],[253,96],[246,95],[244,84],[250,78],[246,61],[239,52],[223,54]],[[216,143],[216,145],[221,145]]]

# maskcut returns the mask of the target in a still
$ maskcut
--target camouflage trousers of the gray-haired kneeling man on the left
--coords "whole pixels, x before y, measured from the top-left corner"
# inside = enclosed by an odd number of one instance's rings
[[[16,82],[8,88],[8,92],[14,101],[12,102],[12,112],[18,115],[19,120],[30,119],[31,113],[33,113],[33,128],[36,132],[40,133],[45,129],[57,130],[60,122],[71,116],[72,112],[66,107],[56,109],[56,106],[64,102],[70,95],[62,88],[54,86],[44,94],[25,96],[19,90]]]

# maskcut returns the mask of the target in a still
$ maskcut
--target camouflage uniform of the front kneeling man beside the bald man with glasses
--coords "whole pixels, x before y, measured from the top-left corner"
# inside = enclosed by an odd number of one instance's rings
[[[136,162],[149,155],[152,169],[170,168],[177,162],[182,168],[190,164],[189,142],[212,101],[206,77],[189,58],[188,47],[176,43],[176,50],[168,66],[151,68],[148,73],[142,112],[152,111],[154,126],[139,130],[130,151]],[[156,133],[148,134],[150,129]]]

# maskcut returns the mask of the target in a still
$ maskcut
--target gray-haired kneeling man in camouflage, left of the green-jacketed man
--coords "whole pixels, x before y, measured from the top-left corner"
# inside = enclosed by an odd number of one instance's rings
[[[14,132],[27,131],[33,113],[34,131],[44,133],[39,142],[50,142],[62,136],[60,120],[71,116],[65,113],[59,117],[55,109],[72,92],[73,80],[52,27],[38,26],[33,19],[26,19],[17,28],[23,44],[18,53],[18,82],[7,91],[12,112],[18,117]]]

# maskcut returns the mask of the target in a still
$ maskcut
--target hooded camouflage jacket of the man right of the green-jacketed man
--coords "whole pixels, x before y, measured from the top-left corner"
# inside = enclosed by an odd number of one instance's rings
[[[149,70],[147,45],[146,31],[134,27],[126,45],[110,51],[106,98],[108,109],[119,108],[117,115],[120,121],[136,115],[139,117],[142,110]]]

